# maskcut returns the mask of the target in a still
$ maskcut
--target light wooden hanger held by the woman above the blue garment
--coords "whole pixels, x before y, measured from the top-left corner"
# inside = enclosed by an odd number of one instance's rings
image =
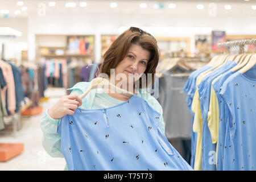
[[[108,88],[112,89],[114,91],[117,91],[118,93],[122,94],[123,96],[131,98],[133,96],[133,93],[128,92],[127,90],[118,88],[117,86],[113,85],[110,83],[108,80],[102,77],[96,77],[93,78],[92,81],[90,81],[89,87],[85,90],[84,93],[81,94],[80,98],[84,98],[92,89],[97,89],[97,88]]]

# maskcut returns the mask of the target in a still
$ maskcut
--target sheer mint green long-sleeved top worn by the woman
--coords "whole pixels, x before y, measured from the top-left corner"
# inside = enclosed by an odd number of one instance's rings
[[[90,82],[78,82],[72,88],[69,88],[67,90],[72,90],[71,94],[76,94],[77,96],[80,96],[88,88],[89,84]],[[143,100],[147,101],[147,103],[153,109],[161,114],[159,123],[164,133],[165,123],[163,120],[162,106],[154,97],[150,95],[150,93],[147,93],[142,89],[139,90],[138,96],[143,98]],[[100,109],[104,107],[112,107],[121,104],[122,102],[124,101],[117,100],[106,94],[103,89],[93,89],[90,90],[87,96],[82,99],[82,105],[80,107],[82,109]],[[57,129],[60,125],[61,119],[52,119],[48,115],[47,111],[40,121],[40,127],[43,131],[42,144],[44,150],[46,150],[47,153],[53,158],[64,158],[60,150],[61,135],[57,133]],[[64,170],[68,170],[67,164]]]

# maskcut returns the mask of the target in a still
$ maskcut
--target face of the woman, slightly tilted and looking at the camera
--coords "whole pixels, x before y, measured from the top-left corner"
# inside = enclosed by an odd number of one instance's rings
[[[116,79],[120,74],[123,84],[133,84],[146,71],[149,59],[149,51],[137,44],[131,44],[125,58],[115,68]]]

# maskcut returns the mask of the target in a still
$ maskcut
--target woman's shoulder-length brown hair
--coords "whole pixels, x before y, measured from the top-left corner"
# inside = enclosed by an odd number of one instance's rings
[[[152,73],[152,85],[154,84],[155,69],[159,61],[159,48],[154,39],[147,34],[141,34],[140,32],[132,32],[130,29],[123,32],[112,43],[108,51],[104,54],[104,62],[101,65],[100,73],[106,73],[110,77],[110,69],[116,68],[117,65],[125,59],[127,52],[131,44],[137,44],[143,49],[150,52],[150,60],[147,63],[146,71],[146,83],[147,73]],[[142,88],[142,78],[139,78],[139,88]],[[149,86],[149,85],[147,85]]]

